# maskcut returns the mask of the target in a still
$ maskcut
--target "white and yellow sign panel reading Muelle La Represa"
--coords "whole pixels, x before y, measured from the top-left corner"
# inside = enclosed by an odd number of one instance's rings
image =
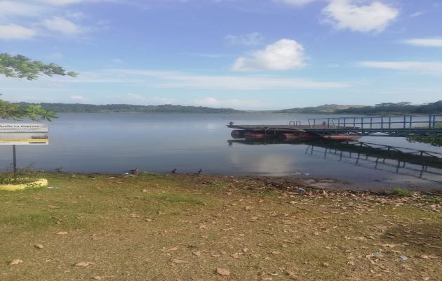
[[[0,145],[48,144],[48,124],[0,123]]]

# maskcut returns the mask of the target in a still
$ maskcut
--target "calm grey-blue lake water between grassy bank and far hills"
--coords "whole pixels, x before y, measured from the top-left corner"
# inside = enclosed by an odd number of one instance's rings
[[[336,178],[359,187],[438,188],[434,166],[379,159],[325,144],[231,142],[226,124],[288,124],[321,117],[287,114],[59,114],[49,124],[50,145],[17,146],[18,166],[34,169],[122,174],[138,168],[155,173],[299,176]],[[323,116],[327,117],[327,116]],[[405,138],[364,137],[361,141],[442,153],[442,148]],[[0,145],[0,168],[12,162],[12,148]],[[377,161],[376,161],[377,160]]]

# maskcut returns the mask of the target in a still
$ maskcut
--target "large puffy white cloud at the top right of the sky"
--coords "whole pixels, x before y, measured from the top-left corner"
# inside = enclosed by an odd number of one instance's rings
[[[331,0],[323,9],[326,22],[337,29],[359,32],[381,32],[399,15],[399,10],[379,1],[358,5],[356,0]]]

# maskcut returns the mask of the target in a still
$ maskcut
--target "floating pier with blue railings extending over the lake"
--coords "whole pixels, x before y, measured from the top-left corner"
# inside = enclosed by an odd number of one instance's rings
[[[236,125],[231,122],[229,128],[279,135],[294,133],[316,136],[347,134],[351,136],[415,136],[424,138],[442,138],[442,115],[403,115],[403,116],[364,116],[311,118],[308,124],[292,121],[288,125]]]

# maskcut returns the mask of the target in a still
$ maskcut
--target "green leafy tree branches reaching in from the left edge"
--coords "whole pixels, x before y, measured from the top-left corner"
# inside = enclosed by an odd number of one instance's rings
[[[35,80],[41,74],[48,76],[61,75],[76,77],[76,72],[68,72],[55,63],[45,64],[38,60],[31,60],[23,55],[9,55],[0,53],[0,74],[6,77],[25,78]],[[0,99],[0,118],[15,119],[30,118],[33,120],[48,120],[56,118],[55,113],[44,110],[41,105],[19,105]]]

